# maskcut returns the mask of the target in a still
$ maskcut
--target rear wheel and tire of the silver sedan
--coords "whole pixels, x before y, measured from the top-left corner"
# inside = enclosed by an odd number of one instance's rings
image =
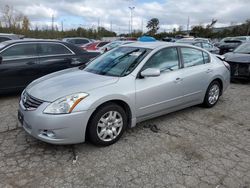
[[[220,98],[221,85],[218,81],[213,81],[207,88],[206,95],[203,101],[203,106],[212,108],[216,105]]]

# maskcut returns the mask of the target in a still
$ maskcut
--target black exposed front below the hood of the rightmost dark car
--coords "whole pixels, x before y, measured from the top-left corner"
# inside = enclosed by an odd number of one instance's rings
[[[250,65],[246,63],[228,62],[232,76],[250,76]]]

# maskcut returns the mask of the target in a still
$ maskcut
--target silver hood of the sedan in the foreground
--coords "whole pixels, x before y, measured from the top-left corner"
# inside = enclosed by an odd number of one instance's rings
[[[53,102],[73,93],[88,92],[115,83],[118,79],[118,77],[102,76],[72,68],[39,78],[33,81],[26,91],[37,99]]]

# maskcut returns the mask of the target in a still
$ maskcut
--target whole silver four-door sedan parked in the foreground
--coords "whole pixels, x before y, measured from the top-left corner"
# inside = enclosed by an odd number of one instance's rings
[[[226,62],[194,46],[132,43],[87,65],[33,81],[22,93],[24,130],[52,144],[110,145],[127,128],[166,113],[213,107],[229,85]]]

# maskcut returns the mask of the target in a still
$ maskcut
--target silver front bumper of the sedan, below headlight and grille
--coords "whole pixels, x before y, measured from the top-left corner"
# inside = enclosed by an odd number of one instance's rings
[[[44,114],[49,105],[43,102],[36,110],[28,111],[22,101],[19,103],[18,119],[24,130],[33,137],[51,144],[76,144],[85,141],[88,120],[92,111],[70,114]],[[52,137],[44,132],[53,132]]]

